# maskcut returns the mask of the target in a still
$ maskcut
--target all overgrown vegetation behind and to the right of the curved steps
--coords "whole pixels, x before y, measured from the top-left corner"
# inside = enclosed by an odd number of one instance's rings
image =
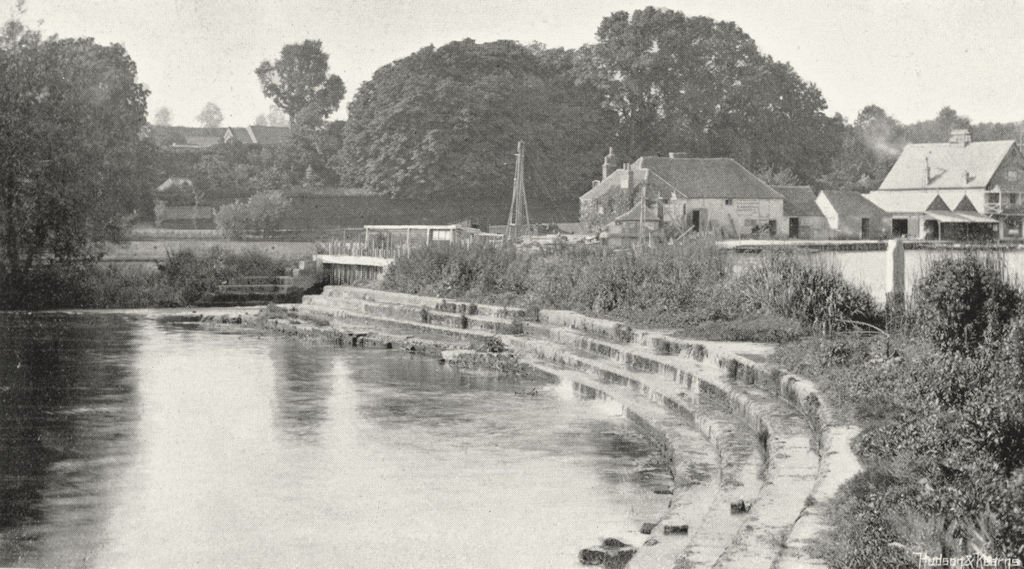
[[[642,253],[429,248],[396,260],[383,286],[783,342],[774,363],[814,380],[863,429],[864,470],[835,498],[819,543],[830,566],[1024,557],[1024,302],[997,258],[931,266],[900,307],[792,253],[735,272],[700,240]]]

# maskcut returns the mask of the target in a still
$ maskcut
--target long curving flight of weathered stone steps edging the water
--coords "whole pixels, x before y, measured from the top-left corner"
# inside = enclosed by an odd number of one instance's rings
[[[765,366],[758,345],[681,340],[557,310],[542,310],[540,321],[530,322],[523,318],[525,311],[477,306],[473,322],[469,314],[463,318],[458,313],[469,311],[464,303],[366,289],[328,289],[325,297],[308,304],[312,309],[335,311],[338,317],[393,322],[463,338],[487,338],[488,333],[510,330],[502,329],[500,322],[516,322],[525,337],[502,338],[517,353],[571,367],[574,371],[568,373],[598,382],[591,387],[599,385],[602,393],[616,400],[633,394],[674,415],[691,417],[722,452],[720,493],[715,498],[699,490],[692,492],[700,496],[700,507],[708,508],[706,515],[696,518],[696,524],[688,524],[687,537],[670,536],[672,546],[641,548],[634,563],[644,565],[638,566],[669,566],[662,562],[672,558],[685,558],[686,563],[701,567],[822,566],[808,545],[825,527],[821,501],[848,478],[842,473],[857,466],[849,449],[855,433],[834,432],[813,384]],[[423,314],[428,322],[420,321]],[[462,325],[467,329],[461,330]],[[477,332],[487,325],[492,330]],[[659,428],[674,437],[684,436],[673,433],[671,425]],[[730,442],[736,443],[731,449]],[[754,452],[752,459],[750,451],[759,442],[768,456],[763,472],[760,453]],[[739,452],[744,447],[745,455]],[[767,481],[763,485],[761,474]],[[674,511],[677,504],[680,512],[693,511],[693,504],[685,506],[687,495],[691,494],[677,492]],[[815,500],[807,500],[810,495]],[[732,514],[721,507],[733,498],[748,500],[751,510]],[[683,524],[686,516],[670,514],[662,523]]]

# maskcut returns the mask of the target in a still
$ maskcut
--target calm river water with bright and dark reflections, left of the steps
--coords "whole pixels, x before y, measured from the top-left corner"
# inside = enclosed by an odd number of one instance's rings
[[[563,385],[0,314],[0,566],[575,567],[643,540],[654,462],[621,409]]]

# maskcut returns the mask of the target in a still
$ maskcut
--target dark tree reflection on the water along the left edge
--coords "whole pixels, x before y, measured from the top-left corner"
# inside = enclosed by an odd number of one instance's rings
[[[134,349],[117,317],[0,319],[0,565],[78,565],[102,539],[135,447]]]

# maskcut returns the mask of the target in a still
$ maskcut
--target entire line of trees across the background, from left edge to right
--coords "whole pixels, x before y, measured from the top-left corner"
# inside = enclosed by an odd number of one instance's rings
[[[571,203],[624,162],[686,152],[731,157],[767,180],[869,190],[902,145],[945,140],[969,119],[944,108],[902,125],[878,106],[828,116],[813,83],[763,53],[732,23],[669,9],[617,11],[577,49],[471,39],[427,46],[346,95],[322,43],[286,45],[254,70],[291,127],[278,148],[163,151],[145,128],[146,89],[120,45],[44,38],[16,20],[0,35],[0,277],[41,257],[89,253],[116,237],[169,176],[243,196],[297,185],[367,187],[403,199],[505,201],[516,141],[534,200]],[[216,105],[201,115],[222,117]],[[169,112],[158,112],[160,122]],[[263,122],[280,122],[275,113]],[[1017,138],[1021,124],[974,125]]]

